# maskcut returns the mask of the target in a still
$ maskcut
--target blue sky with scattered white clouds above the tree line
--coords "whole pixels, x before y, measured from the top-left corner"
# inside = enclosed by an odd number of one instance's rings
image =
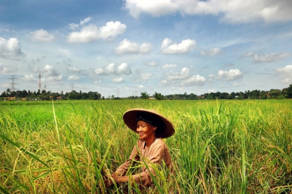
[[[291,0],[0,0],[0,93],[283,89]],[[40,78],[39,78],[40,75]]]

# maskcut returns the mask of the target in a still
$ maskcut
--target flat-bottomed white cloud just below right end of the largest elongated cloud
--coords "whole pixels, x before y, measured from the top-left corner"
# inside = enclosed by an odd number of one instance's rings
[[[119,46],[115,47],[115,52],[121,54],[148,54],[152,49],[150,43],[144,42],[140,46],[136,42],[131,42],[128,39],[124,39],[120,42]]]

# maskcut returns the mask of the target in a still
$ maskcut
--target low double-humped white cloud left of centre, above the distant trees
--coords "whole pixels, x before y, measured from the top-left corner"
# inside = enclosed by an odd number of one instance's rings
[[[109,65],[106,65],[102,68],[96,68],[94,72],[97,75],[130,75],[132,73],[131,69],[128,67],[128,63],[122,63],[117,67],[114,63],[110,63]]]

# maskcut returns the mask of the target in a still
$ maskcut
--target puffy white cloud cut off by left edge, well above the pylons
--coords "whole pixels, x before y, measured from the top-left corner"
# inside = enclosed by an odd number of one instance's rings
[[[20,60],[25,56],[21,52],[20,43],[16,38],[3,39],[0,37],[0,57]]]

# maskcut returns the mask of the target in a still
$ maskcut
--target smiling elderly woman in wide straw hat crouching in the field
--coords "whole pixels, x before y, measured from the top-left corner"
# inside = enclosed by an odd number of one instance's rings
[[[136,161],[140,161],[142,164],[146,162],[148,166],[148,168],[142,167],[141,173],[130,177],[131,181],[136,182],[140,187],[153,185],[150,174],[155,177],[155,172],[151,167],[153,167],[152,165],[161,165],[162,160],[173,173],[171,157],[165,142],[162,140],[162,138],[174,134],[172,123],[159,113],[146,109],[130,109],[124,113],[123,120],[128,128],[138,133],[140,139],[134,146],[128,160],[111,175],[111,179],[117,183],[128,182],[129,176],[125,175],[128,168]],[[110,186],[113,182],[107,179],[105,183]]]

